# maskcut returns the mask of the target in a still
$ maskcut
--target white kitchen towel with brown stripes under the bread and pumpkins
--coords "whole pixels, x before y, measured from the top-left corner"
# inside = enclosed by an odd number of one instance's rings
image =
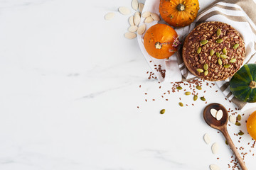
[[[157,6],[157,8],[156,8]],[[154,13],[159,13],[158,10],[159,0],[146,0],[143,11],[151,11]],[[184,28],[176,28],[176,32],[180,36],[179,39],[183,41],[186,35],[198,26],[198,24],[206,21],[220,21],[223,23],[228,23],[233,28],[238,30],[243,40],[245,41],[245,61],[243,64],[255,63],[256,62],[256,4],[253,0],[218,0],[214,1],[207,8],[205,8],[201,13],[198,13],[196,20],[191,23],[190,26]],[[159,23],[164,23],[164,21],[159,21]],[[151,25],[156,24],[156,21],[151,23]],[[150,26],[147,26],[149,28]],[[159,81],[188,81],[191,79],[196,79],[196,77],[191,74],[191,72],[186,69],[181,57],[181,50],[175,53],[175,55],[169,57],[168,60],[157,60],[151,57],[143,45],[143,35],[138,36],[139,46],[142,50],[144,57],[146,58],[149,66],[152,68],[154,75],[156,75]],[[159,72],[160,70],[165,70]],[[223,91],[225,97],[230,101],[233,101],[240,109],[244,108],[247,103],[238,101],[229,89],[229,80],[216,81],[216,84]]]

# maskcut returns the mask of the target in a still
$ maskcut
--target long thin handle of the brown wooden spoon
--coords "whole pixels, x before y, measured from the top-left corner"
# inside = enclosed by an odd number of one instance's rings
[[[247,170],[247,167],[245,166],[245,162],[243,162],[242,157],[240,156],[238,150],[236,149],[233,141],[230,138],[230,135],[228,135],[228,130],[227,128],[224,128],[223,130],[221,130],[224,137],[226,138],[228,145],[230,146],[230,148],[232,149],[233,153],[235,154],[235,157],[238,159],[238,163],[240,164],[242,170]]]

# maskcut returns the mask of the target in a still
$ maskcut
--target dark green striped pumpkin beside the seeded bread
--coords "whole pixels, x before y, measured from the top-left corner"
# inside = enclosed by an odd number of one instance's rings
[[[240,101],[256,102],[256,64],[245,64],[230,80],[230,90]]]

